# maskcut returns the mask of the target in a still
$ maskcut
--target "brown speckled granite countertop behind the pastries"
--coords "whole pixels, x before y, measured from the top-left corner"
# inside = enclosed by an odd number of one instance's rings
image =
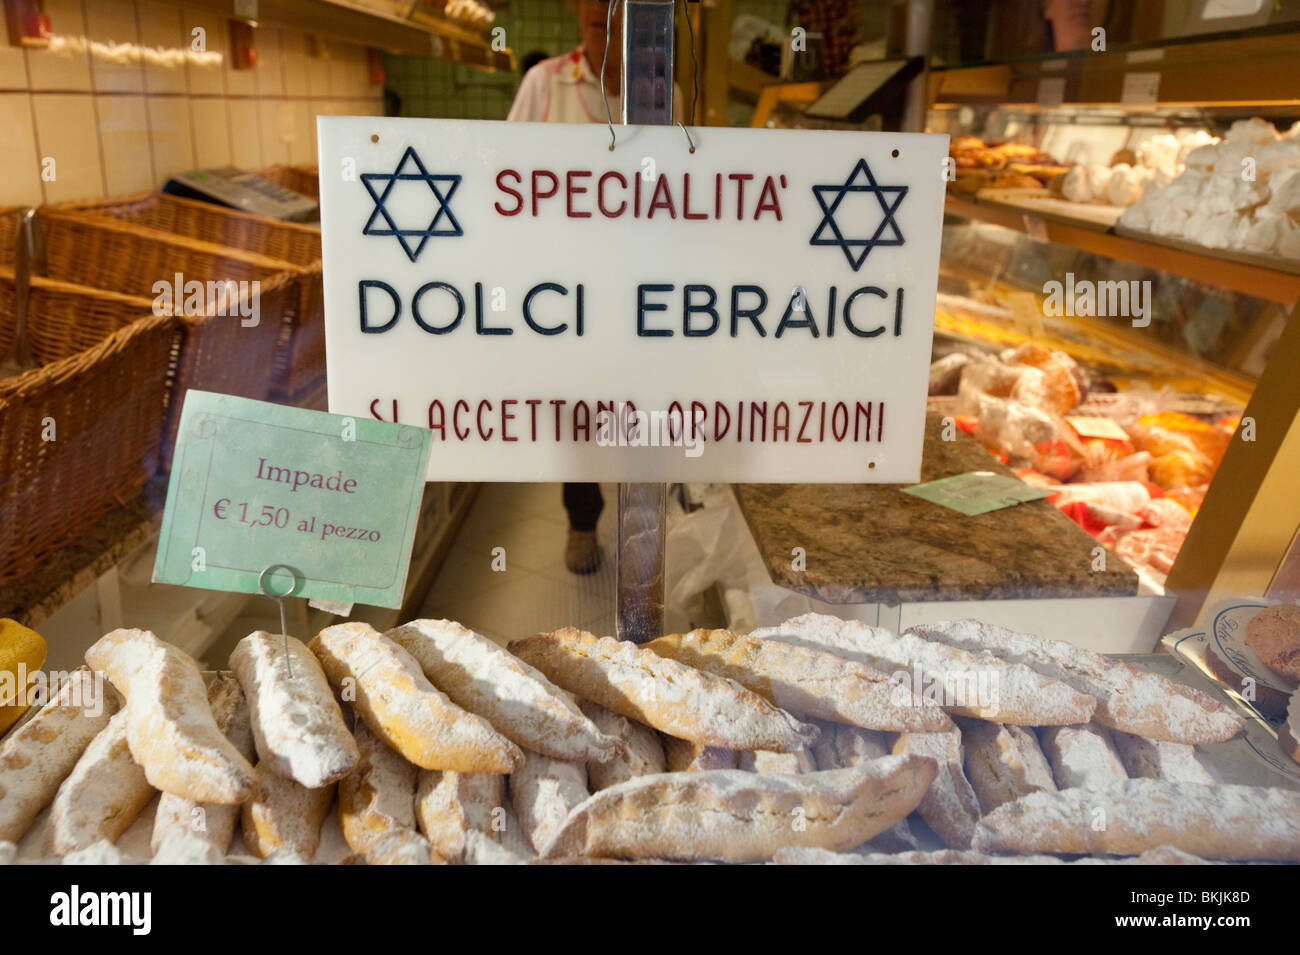
[[[920,481],[971,470],[1014,477],[968,435],[926,421]],[[734,485],[772,582],[827,603],[1132,596],[1138,574],[1046,500],[966,516],[904,485]],[[806,554],[793,568],[793,550]]]

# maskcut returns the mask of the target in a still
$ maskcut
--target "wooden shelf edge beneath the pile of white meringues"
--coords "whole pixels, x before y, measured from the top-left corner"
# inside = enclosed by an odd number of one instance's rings
[[[948,196],[944,212],[949,216],[991,222],[1071,246],[1084,252],[1106,256],[1122,262],[1167,272],[1221,288],[1253,295],[1292,308],[1300,301],[1300,274],[1270,269],[1236,259],[1216,255],[1213,249],[1195,252],[1145,239],[1097,231],[1093,223],[1071,225],[1061,217],[1034,216],[1006,205],[989,205],[976,199]]]

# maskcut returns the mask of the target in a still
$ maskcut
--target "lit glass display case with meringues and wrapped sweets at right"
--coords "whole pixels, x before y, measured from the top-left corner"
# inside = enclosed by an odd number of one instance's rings
[[[1266,455],[1238,446],[1265,414],[1278,451],[1294,413],[1297,43],[1279,26],[930,74],[930,125],[952,136],[932,407],[1169,586],[1180,618],[1222,567],[1192,528],[1257,496]],[[1279,517],[1294,533],[1300,513]]]

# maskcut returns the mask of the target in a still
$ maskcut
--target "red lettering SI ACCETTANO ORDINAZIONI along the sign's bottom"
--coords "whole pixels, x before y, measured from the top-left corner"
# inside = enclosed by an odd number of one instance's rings
[[[403,421],[398,399],[374,398],[370,414],[378,421]],[[416,414],[434,440],[459,443],[654,447],[682,442],[879,444],[885,439],[885,401],[876,400],[684,400],[649,409],[636,401],[434,398]]]

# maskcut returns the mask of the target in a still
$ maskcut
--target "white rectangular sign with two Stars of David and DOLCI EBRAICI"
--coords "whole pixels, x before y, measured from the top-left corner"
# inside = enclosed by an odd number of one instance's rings
[[[318,130],[330,411],[430,479],[919,477],[946,136]]]

